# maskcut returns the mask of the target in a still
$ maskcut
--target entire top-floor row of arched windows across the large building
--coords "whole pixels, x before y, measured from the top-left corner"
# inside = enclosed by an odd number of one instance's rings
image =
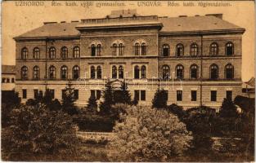
[[[142,42],[135,43],[134,44],[134,55],[146,55],[146,43]],[[102,46],[101,44],[92,44],[90,46],[91,48],[91,55],[92,56],[101,56],[102,54]],[[112,46],[112,55],[124,55],[124,44],[123,43],[114,43]],[[190,55],[191,56],[197,56],[199,51],[199,46],[193,42],[190,46]],[[21,59],[27,59],[28,58],[28,49],[26,47],[22,48],[21,50]],[[56,59],[56,48],[54,46],[49,48],[49,59]],[[184,46],[179,43],[176,46],[176,56],[182,56],[184,55]],[[231,56],[234,54],[234,44],[232,42],[227,42],[226,44],[226,55]],[[169,56],[170,55],[170,46],[168,44],[164,44],[162,47],[162,55],[163,56]],[[209,55],[211,56],[217,56],[218,55],[218,43],[213,42],[209,46]],[[79,58],[80,57],[80,48],[79,46],[75,46],[73,48],[73,58]],[[38,47],[35,47],[33,50],[33,59],[39,59],[40,58],[40,50]],[[68,58],[68,48],[66,46],[61,47],[61,58],[66,59]]]

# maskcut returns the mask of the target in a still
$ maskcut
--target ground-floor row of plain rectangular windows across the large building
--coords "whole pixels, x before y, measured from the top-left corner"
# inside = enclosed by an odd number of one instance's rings
[[[55,90],[50,90],[52,99],[55,99]],[[66,90],[62,90],[62,99],[65,98]],[[168,100],[168,90],[164,90],[164,99]],[[34,90],[34,99],[38,97],[43,97],[43,91],[35,89]],[[101,90],[91,90],[91,96],[96,99],[101,99]],[[226,98],[232,100],[232,90],[226,91]],[[27,90],[22,90],[22,99],[27,99]],[[79,90],[74,90],[74,99],[79,99]],[[146,101],[146,90],[134,90],[134,99],[138,101]],[[176,100],[182,101],[182,90],[177,90]],[[212,102],[217,101],[217,90],[210,90],[210,100]],[[197,101],[197,90],[191,90],[191,101]]]

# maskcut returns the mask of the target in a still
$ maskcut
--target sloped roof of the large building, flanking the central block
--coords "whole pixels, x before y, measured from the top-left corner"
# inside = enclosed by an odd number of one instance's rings
[[[230,30],[230,29],[242,29],[235,24],[231,24],[226,20],[222,20],[213,15],[203,16],[188,16],[188,17],[159,17],[157,20],[163,24],[163,28],[160,33],[186,33],[186,32],[198,32],[198,31],[214,31],[214,30]],[[111,25],[112,23],[108,23]],[[118,25],[118,22],[114,22],[113,25]],[[120,22],[124,24],[124,22]],[[81,22],[71,23],[49,23],[43,24],[43,26],[30,30],[27,33],[21,34],[16,38],[29,38],[29,37],[75,37],[79,36],[79,30],[75,27],[83,26]],[[106,24],[97,24],[102,25]],[[245,30],[245,29],[242,29]]]

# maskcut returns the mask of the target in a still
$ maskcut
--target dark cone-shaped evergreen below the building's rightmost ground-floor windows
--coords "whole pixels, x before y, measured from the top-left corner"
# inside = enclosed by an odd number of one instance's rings
[[[230,99],[223,99],[222,107],[219,111],[220,117],[238,117],[236,105]]]

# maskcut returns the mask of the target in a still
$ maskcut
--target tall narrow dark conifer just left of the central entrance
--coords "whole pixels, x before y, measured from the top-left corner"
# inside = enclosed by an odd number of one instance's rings
[[[103,102],[100,104],[101,113],[109,113],[111,105],[115,104],[112,82],[107,81],[103,90]]]

